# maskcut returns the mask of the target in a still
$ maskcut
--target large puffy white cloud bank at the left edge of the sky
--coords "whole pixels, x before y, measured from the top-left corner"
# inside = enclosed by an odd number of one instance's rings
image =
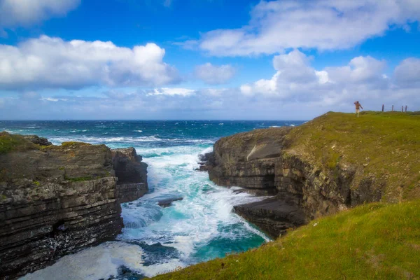
[[[165,49],[154,43],[123,48],[110,41],[41,36],[16,47],[0,45],[0,89],[176,83],[179,73],[164,56]]]

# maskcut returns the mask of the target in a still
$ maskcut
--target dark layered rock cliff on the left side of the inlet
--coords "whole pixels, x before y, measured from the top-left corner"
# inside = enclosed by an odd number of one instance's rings
[[[139,170],[124,172],[118,165],[116,174],[113,164],[134,160],[123,152],[116,158],[104,145],[53,146],[36,136],[0,133],[0,279],[41,269],[120,233],[119,200],[141,194],[118,190],[132,182],[125,174]],[[140,173],[137,179],[146,180],[146,170]]]

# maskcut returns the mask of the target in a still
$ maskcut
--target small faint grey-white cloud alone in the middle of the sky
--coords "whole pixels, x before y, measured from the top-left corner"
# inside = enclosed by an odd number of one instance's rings
[[[236,69],[232,65],[215,66],[206,63],[195,67],[195,76],[209,85],[227,83],[235,76]]]

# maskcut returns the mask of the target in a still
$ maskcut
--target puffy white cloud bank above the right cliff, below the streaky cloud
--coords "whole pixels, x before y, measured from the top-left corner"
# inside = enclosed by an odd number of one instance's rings
[[[314,69],[311,58],[300,50],[276,55],[276,70],[270,79],[242,85],[244,95],[262,95],[284,102],[318,102],[327,106],[348,102],[353,97],[377,99],[381,90],[391,94],[391,80],[384,76],[386,62],[373,57],[355,57],[339,67]]]

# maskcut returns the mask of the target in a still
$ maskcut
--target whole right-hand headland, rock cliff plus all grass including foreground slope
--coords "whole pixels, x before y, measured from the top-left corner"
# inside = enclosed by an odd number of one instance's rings
[[[276,193],[238,214],[272,235],[307,225],[154,279],[419,279],[419,154],[419,114],[396,112],[330,112],[220,139],[211,180]]]

